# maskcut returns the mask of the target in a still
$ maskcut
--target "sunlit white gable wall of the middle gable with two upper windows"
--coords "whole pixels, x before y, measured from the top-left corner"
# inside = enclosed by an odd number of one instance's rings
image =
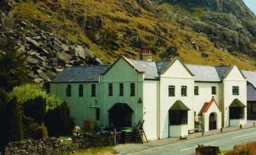
[[[159,102],[159,137],[169,136],[168,110],[177,100],[181,100],[190,108],[188,111],[188,129],[194,129],[194,78],[180,61],[174,62],[160,78],[160,102]],[[175,86],[175,96],[168,96],[168,86]],[[181,86],[187,86],[187,96],[181,96]],[[171,132],[171,131],[170,131]],[[174,131],[176,132],[176,131]]]

